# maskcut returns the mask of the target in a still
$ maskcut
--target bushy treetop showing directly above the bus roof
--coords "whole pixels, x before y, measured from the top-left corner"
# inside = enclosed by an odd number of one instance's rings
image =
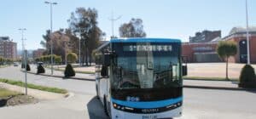
[[[143,20],[132,18],[129,23],[122,24],[119,27],[120,37],[146,37],[143,29]]]

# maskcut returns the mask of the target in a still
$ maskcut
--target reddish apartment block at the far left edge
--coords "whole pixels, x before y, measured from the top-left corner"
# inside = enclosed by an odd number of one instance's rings
[[[0,56],[6,59],[17,59],[17,43],[9,37],[0,37]]]

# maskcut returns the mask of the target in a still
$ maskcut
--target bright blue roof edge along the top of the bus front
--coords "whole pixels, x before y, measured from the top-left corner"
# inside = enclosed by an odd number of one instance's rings
[[[117,38],[111,39],[110,42],[181,42],[180,39],[171,38]]]

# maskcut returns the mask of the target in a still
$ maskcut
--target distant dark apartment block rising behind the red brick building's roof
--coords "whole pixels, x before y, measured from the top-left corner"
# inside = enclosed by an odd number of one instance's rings
[[[210,42],[214,38],[221,37],[221,31],[196,32],[195,37],[189,37],[189,42]]]

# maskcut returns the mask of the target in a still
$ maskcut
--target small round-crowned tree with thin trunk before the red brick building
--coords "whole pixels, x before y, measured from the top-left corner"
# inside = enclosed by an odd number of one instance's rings
[[[236,42],[233,41],[221,41],[217,46],[218,56],[226,61],[226,79],[229,79],[228,66],[230,56],[234,56],[237,53]]]

